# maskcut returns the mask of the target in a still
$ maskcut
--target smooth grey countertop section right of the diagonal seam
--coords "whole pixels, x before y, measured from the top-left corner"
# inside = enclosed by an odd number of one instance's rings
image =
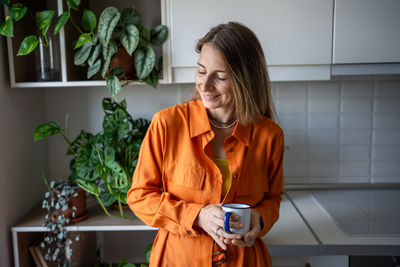
[[[287,191],[322,255],[400,255],[399,189]]]

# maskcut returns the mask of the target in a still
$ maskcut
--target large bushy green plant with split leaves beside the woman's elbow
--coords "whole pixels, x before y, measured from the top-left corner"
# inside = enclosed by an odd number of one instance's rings
[[[107,215],[125,218],[122,206],[127,204],[126,195],[149,121],[134,120],[127,112],[125,100],[118,103],[104,98],[102,104],[104,120],[101,132],[92,134],[82,130],[71,140],[67,116],[65,129],[57,122],[46,122],[36,128],[34,140],[61,135],[68,145],[67,155],[73,156],[69,180],[93,195]],[[116,203],[119,215],[109,212],[113,203]]]

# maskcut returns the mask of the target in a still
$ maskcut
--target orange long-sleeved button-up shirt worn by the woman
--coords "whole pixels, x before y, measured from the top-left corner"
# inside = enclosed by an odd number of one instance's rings
[[[128,204],[147,225],[157,227],[150,266],[211,266],[222,254],[214,240],[193,225],[200,209],[220,203],[222,177],[213,160],[213,139],[200,100],[156,113],[143,140],[128,192]],[[283,132],[272,120],[237,124],[224,143],[231,186],[223,203],[247,203],[264,223],[265,235],[279,217],[283,194]],[[221,266],[271,266],[259,238],[252,247],[228,246]]]

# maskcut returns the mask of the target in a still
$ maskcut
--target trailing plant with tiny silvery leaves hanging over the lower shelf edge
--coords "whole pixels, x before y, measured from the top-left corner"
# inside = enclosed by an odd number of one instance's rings
[[[67,225],[74,220],[82,220],[86,216],[86,202],[84,211],[80,211],[75,203],[79,203],[77,199],[85,196],[85,192],[79,192],[80,188],[74,186],[68,181],[51,181],[43,176],[48,191],[45,194],[42,208],[46,209],[45,222],[43,226],[48,230],[45,233],[40,246],[45,251],[45,259],[56,262],[58,266],[69,267],[73,263],[71,261],[73,241],[79,240],[79,235],[74,239],[67,230]],[[84,214],[79,214],[84,212]]]

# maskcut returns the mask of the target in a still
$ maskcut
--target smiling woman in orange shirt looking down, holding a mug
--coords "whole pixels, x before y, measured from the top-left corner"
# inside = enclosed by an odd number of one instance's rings
[[[128,203],[159,228],[150,266],[271,266],[260,239],[279,217],[283,132],[273,122],[261,45],[230,22],[198,43],[196,95],[156,113]],[[221,203],[252,207],[242,238],[224,231]],[[241,228],[233,216],[231,227]]]

